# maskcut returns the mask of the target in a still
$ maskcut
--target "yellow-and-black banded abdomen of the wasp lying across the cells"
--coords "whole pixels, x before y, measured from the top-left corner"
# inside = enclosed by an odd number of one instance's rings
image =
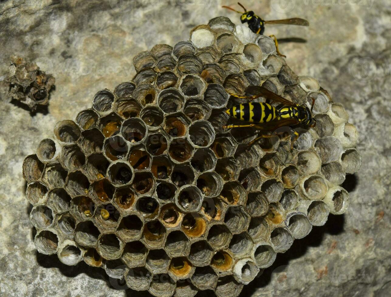
[[[279,116],[279,112],[268,103],[249,102],[226,110],[231,117],[249,123],[267,123]]]

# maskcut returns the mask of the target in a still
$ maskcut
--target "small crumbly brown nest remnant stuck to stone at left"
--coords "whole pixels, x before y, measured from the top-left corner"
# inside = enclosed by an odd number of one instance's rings
[[[51,74],[46,74],[40,70],[37,64],[28,63],[20,57],[11,56],[8,81],[11,98],[35,110],[37,105],[48,104],[49,92],[55,79]]]

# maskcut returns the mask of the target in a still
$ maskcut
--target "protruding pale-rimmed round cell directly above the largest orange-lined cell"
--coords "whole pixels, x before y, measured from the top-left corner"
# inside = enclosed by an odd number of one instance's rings
[[[175,203],[183,212],[198,212],[202,199],[201,191],[193,185],[184,185],[175,195]]]

